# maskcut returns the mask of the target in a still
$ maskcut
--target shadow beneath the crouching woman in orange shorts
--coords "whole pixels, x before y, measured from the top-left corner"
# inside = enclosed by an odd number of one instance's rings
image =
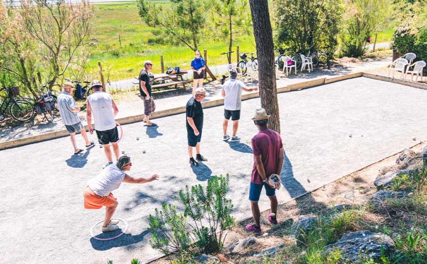
[[[111,238],[121,233],[121,229],[114,232],[102,233],[97,235],[97,238]],[[120,237],[108,240],[99,241],[94,238],[90,238],[90,244],[92,248],[99,251],[109,250],[115,247],[132,246],[133,244],[139,243],[144,240],[144,237],[148,235],[148,230],[144,230],[141,234],[133,236],[132,234],[123,234]]]

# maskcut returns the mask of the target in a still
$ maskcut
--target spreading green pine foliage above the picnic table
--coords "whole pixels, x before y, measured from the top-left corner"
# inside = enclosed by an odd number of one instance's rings
[[[170,0],[168,8],[138,0],[139,16],[149,26],[157,28],[153,34],[172,43],[184,44],[193,51],[203,40],[206,15],[202,0]]]

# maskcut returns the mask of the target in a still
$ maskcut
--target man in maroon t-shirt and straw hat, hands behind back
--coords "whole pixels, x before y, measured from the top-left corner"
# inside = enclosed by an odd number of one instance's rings
[[[270,199],[271,214],[267,219],[272,224],[277,224],[277,197],[276,189],[267,182],[271,174],[280,175],[283,166],[283,144],[279,133],[268,129],[268,118],[265,109],[257,109],[254,120],[258,127],[258,134],[252,138],[252,149],[254,152],[254,168],[252,169],[251,185],[249,189],[249,200],[251,201],[252,215],[255,224],[248,224],[246,228],[254,233],[261,233],[260,212],[258,207],[262,187]],[[281,179],[278,177],[281,184]]]

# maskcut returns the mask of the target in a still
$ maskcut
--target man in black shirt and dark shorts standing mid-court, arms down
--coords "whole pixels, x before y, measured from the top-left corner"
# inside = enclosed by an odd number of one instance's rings
[[[193,158],[193,148],[196,147],[196,159],[207,161],[200,154],[200,139],[202,137],[203,128],[203,109],[200,101],[206,96],[206,91],[203,88],[198,88],[194,96],[187,102],[187,140],[188,140],[188,155],[190,156],[190,164],[198,166],[199,163]]]

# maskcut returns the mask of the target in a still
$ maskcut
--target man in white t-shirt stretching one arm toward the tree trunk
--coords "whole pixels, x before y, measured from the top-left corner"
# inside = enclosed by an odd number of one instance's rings
[[[247,92],[257,91],[258,87],[249,88],[242,81],[236,80],[237,71],[234,69],[230,70],[230,79],[223,84],[221,94],[224,97],[224,122],[223,122],[223,131],[224,137],[223,140],[227,141],[230,139],[230,136],[227,134],[228,120],[233,121],[233,136],[231,142],[239,141],[240,138],[236,136],[237,128],[239,127],[240,119],[240,108],[241,108],[241,90]]]

